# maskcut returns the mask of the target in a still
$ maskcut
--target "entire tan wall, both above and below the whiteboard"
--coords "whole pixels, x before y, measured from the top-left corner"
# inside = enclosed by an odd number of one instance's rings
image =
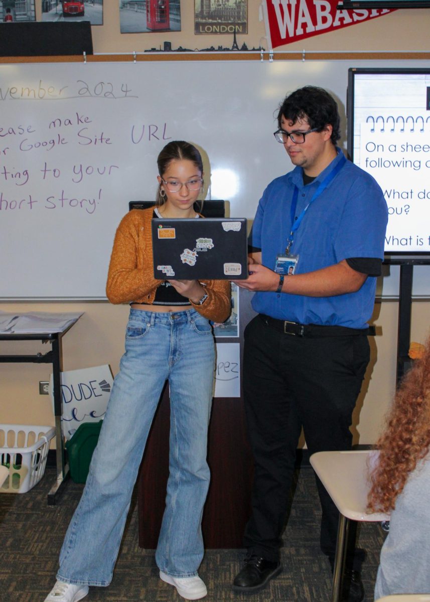
[[[143,51],[168,39],[176,45],[204,48],[231,46],[231,36],[193,36],[193,2],[182,1],[182,32],[169,34],[119,33],[118,7],[115,0],[104,2],[104,25],[93,26],[95,52]],[[249,34],[239,39],[251,48],[264,37],[264,25],[258,21],[257,0],[249,0]],[[187,9],[184,8],[187,7]],[[40,1],[36,2],[40,18]],[[321,51],[423,51],[428,50],[428,20],[425,10],[399,10],[396,13],[311,38],[306,43],[283,49]],[[413,35],[411,35],[413,32]],[[423,63],[424,64],[424,63]],[[428,64],[428,63],[426,63]],[[2,258],[5,261],[5,258]],[[110,364],[115,374],[123,350],[124,327],[128,306],[107,302],[86,303],[0,303],[4,311],[83,311],[83,317],[64,337],[64,370]],[[382,334],[372,339],[372,362],[367,372],[363,395],[354,416],[355,442],[375,441],[394,391],[397,347],[398,304],[384,301],[375,306],[374,321]],[[429,331],[430,301],[413,303],[411,339],[423,343]],[[46,352],[39,343],[0,341],[0,354]],[[44,364],[0,364],[0,423],[54,424],[49,396],[39,396],[39,380],[49,380],[50,367]],[[365,395],[364,395],[365,393]]]

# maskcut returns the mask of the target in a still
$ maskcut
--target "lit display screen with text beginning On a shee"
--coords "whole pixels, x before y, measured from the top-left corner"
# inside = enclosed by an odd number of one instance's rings
[[[430,255],[430,69],[349,69],[347,131],[387,201],[385,253]]]

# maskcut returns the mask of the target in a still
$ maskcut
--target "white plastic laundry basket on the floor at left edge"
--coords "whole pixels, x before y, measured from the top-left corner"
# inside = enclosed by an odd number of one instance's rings
[[[39,483],[54,436],[53,426],[0,424],[0,465],[9,471],[0,493],[26,493]]]

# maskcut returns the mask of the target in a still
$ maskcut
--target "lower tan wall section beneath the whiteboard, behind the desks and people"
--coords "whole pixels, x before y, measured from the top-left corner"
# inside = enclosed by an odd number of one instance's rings
[[[128,306],[107,302],[2,303],[4,311],[83,311],[63,339],[63,368],[77,370],[110,364],[119,368]],[[373,443],[394,393],[396,382],[398,303],[376,303],[373,321],[378,335],[370,339],[372,361],[354,414],[354,442]],[[411,340],[424,343],[429,333],[430,302],[413,303]],[[0,341],[0,354],[45,353],[39,342]],[[0,364],[0,423],[54,424],[49,396],[39,395],[39,380],[49,380],[49,364]],[[216,402],[215,402],[216,403]]]

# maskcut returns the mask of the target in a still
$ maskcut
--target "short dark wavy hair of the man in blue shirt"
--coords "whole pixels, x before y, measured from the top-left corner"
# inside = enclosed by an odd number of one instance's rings
[[[323,88],[305,85],[295,92],[288,93],[282,101],[278,112],[278,127],[281,119],[296,123],[298,119],[306,119],[311,129],[321,132],[326,125],[331,125],[331,141],[333,144],[340,138],[340,117],[337,103]]]

